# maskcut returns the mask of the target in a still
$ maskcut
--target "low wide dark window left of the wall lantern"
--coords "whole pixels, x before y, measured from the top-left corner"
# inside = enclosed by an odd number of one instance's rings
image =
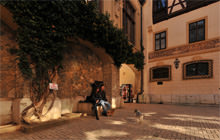
[[[171,80],[171,66],[153,67],[150,69],[150,81]]]

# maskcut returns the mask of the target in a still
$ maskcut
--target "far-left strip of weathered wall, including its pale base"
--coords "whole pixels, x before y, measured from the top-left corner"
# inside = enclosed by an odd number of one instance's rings
[[[16,45],[9,27],[0,26],[0,125],[12,122],[12,98],[15,97],[15,57],[9,49]]]

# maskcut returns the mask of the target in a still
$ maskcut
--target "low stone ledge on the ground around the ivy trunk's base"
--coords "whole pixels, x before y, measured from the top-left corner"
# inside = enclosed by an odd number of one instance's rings
[[[36,123],[32,125],[23,124],[21,125],[21,131],[24,133],[32,133],[32,132],[36,132],[39,130],[44,130],[44,129],[51,128],[54,126],[59,126],[65,123],[69,123],[75,118],[79,118],[81,116],[82,116],[82,113],[68,113],[57,120],[51,120],[51,121]]]

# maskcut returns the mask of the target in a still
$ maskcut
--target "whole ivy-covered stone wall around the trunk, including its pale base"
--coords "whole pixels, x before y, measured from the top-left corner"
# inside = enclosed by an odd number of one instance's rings
[[[20,123],[21,112],[31,104],[30,81],[24,80],[17,66],[16,56],[11,50],[17,48],[11,13],[0,5],[0,125]],[[78,102],[91,94],[91,84],[103,81],[107,99],[113,108],[121,106],[119,91],[119,68],[112,58],[100,47],[79,40],[69,39],[63,69],[58,73],[57,97],[45,121],[58,119],[62,114],[78,112]],[[49,108],[51,101],[45,106]]]

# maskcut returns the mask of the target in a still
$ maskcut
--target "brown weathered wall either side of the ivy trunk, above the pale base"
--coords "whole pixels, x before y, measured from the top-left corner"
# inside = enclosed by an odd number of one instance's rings
[[[0,98],[29,97],[30,82],[23,79],[15,60],[16,56],[9,52],[10,48],[18,47],[15,33],[4,23],[0,29]],[[91,94],[90,84],[98,80],[104,81],[107,98],[110,99],[112,93],[119,93],[119,91],[113,91],[119,90],[118,74],[118,68],[111,63],[103,63],[100,56],[90,48],[72,44],[64,55],[63,69],[58,74],[58,96],[60,98],[88,96]]]

